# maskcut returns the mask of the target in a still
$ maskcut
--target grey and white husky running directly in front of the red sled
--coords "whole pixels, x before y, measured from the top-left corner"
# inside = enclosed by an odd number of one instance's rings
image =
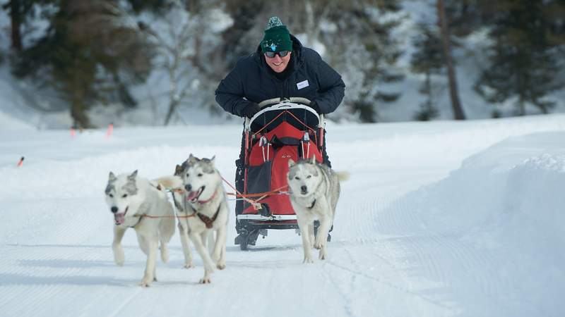
[[[319,259],[326,259],[326,240],[333,218],[335,206],[340,197],[340,180],[346,180],[347,173],[335,173],[328,166],[316,163],[316,158],[288,161],[288,187],[290,203],[295,209],[304,263],[312,263],[311,248],[320,250]],[[314,220],[320,221],[314,237]]]

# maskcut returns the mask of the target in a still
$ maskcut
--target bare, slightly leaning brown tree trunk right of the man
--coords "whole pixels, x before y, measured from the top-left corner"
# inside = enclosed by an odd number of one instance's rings
[[[437,0],[437,15],[439,18],[439,27],[441,28],[441,44],[444,49],[446,58],[447,75],[449,80],[449,94],[451,96],[451,108],[456,120],[465,120],[465,113],[459,100],[459,92],[457,88],[457,78],[455,68],[453,67],[453,59],[451,57],[451,43],[449,41],[449,30],[446,21],[446,9],[444,0]]]

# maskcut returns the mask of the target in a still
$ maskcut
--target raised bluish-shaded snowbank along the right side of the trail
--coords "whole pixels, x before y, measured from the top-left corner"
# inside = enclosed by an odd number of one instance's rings
[[[464,316],[550,316],[565,311],[564,188],[565,132],[510,137],[388,206],[379,222],[405,221],[379,233],[430,240],[409,253],[429,256],[436,271],[419,274],[461,294]]]

